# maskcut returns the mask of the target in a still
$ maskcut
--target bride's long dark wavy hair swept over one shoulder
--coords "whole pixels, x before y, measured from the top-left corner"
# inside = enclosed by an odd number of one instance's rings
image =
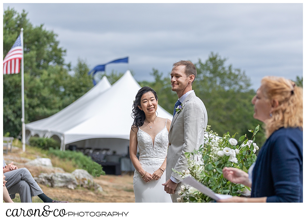
[[[144,112],[142,110],[139,109],[138,106],[141,107],[141,97],[142,95],[144,95],[145,93],[147,92],[152,92],[155,96],[155,99],[156,101],[158,100],[157,98],[157,94],[155,92],[155,90],[153,90],[151,87],[142,87],[138,90],[137,94],[136,94],[136,97],[135,97],[135,100],[133,102],[133,109],[132,109],[132,118],[134,119],[134,122],[132,124],[132,130],[133,128],[136,128],[136,127],[141,127],[142,125],[144,125],[144,120],[146,119],[146,115],[144,114]]]

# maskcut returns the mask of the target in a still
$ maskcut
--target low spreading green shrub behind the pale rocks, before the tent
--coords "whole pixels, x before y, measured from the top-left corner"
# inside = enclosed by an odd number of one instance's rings
[[[80,169],[87,170],[93,176],[105,175],[105,172],[102,170],[102,166],[90,157],[85,156],[81,152],[71,151],[71,150],[55,150],[53,148],[49,149],[49,154],[57,156],[61,159],[74,160],[76,166]]]

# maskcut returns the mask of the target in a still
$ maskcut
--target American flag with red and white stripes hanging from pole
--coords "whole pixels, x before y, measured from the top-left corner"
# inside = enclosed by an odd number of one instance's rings
[[[21,38],[18,36],[9,53],[3,60],[3,74],[17,74],[20,72],[20,61],[23,57]]]

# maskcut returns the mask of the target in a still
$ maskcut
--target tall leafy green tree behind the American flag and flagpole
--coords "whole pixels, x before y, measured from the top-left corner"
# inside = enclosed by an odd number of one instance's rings
[[[43,25],[33,27],[24,11],[6,9],[3,14],[3,58],[24,28],[25,123],[60,111],[86,93],[93,85],[88,66],[78,59],[70,75],[64,63],[66,51],[57,35]],[[3,133],[16,137],[21,131],[21,74],[3,75]]]

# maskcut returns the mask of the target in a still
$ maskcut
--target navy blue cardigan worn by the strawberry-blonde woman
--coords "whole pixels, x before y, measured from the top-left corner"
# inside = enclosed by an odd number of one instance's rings
[[[266,140],[253,169],[251,197],[303,202],[303,131],[282,127]]]

